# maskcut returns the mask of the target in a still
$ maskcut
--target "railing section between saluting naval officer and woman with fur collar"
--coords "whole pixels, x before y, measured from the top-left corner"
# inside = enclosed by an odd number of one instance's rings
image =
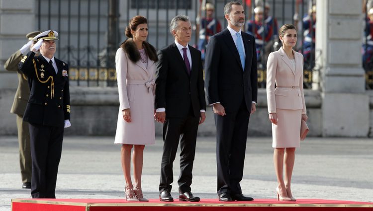
[[[118,0],[37,1],[37,27],[58,31],[55,56],[69,64],[73,85],[115,85],[118,5]]]

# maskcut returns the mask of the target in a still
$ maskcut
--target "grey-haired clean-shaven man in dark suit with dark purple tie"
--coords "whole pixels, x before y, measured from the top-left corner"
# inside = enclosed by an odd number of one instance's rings
[[[198,124],[205,120],[201,52],[188,45],[191,25],[178,15],[170,24],[175,43],[158,52],[155,119],[163,123],[163,155],[159,199],[172,202],[173,162],[180,140],[179,200],[198,202],[190,192]]]

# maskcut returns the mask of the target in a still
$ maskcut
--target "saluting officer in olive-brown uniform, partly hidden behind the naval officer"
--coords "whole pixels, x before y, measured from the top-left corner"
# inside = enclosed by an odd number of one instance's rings
[[[18,147],[19,147],[19,164],[21,167],[22,188],[31,188],[31,151],[30,151],[30,134],[28,132],[28,123],[23,121],[23,114],[26,109],[28,98],[30,97],[30,89],[28,88],[27,77],[19,72],[18,64],[23,56],[30,51],[36,43],[33,39],[41,31],[33,31],[26,35],[28,43],[22,46],[14,54],[12,54],[4,64],[5,70],[17,72],[18,87],[15,92],[13,105],[10,113],[16,114],[17,132],[18,132]]]

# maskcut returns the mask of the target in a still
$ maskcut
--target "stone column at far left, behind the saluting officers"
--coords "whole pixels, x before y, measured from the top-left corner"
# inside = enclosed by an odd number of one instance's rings
[[[35,28],[35,0],[0,0],[0,128],[2,135],[15,135],[15,114],[10,113],[18,79],[4,70],[11,54],[28,42],[26,34]],[[14,134],[15,132],[15,134]]]

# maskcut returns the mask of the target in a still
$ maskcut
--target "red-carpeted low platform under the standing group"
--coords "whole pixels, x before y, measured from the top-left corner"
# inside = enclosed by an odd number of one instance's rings
[[[322,199],[298,199],[278,202],[256,199],[253,202],[126,202],[122,199],[13,199],[12,211],[373,211],[373,203]]]

